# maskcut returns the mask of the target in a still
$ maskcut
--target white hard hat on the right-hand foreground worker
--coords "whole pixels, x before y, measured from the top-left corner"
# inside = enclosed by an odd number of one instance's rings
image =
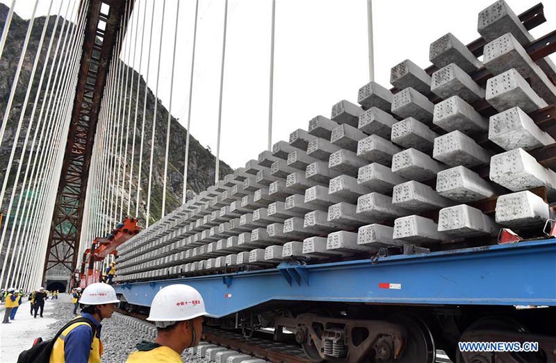
[[[148,321],[166,321],[156,324],[160,328],[170,326],[176,321],[195,319],[206,315],[203,297],[197,289],[189,285],[170,285],[156,293],[151,303]]]

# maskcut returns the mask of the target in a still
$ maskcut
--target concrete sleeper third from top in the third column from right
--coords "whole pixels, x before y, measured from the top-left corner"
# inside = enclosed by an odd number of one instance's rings
[[[414,148],[427,153],[432,151],[434,139],[438,136],[425,124],[408,117],[392,126],[391,140],[406,149]]]

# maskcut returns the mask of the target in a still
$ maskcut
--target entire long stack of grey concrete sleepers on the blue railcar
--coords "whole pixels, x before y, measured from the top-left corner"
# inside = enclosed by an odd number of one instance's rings
[[[538,236],[556,200],[554,43],[503,1],[477,28],[482,61],[435,40],[427,70],[400,62],[391,90],[361,87],[359,105],[336,103],[120,246],[115,280],[495,244],[502,227]]]

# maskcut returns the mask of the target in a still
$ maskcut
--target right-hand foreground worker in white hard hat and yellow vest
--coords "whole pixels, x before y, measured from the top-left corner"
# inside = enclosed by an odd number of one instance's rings
[[[181,353],[199,344],[206,315],[199,292],[188,285],[170,285],[156,293],[147,320],[154,321],[156,339],[141,341],[126,363],[181,363]]]

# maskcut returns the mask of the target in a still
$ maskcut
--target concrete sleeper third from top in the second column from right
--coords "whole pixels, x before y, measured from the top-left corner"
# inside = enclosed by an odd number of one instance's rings
[[[489,128],[489,121],[459,96],[436,103],[432,123],[448,132],[459,130],[466,135]]]

